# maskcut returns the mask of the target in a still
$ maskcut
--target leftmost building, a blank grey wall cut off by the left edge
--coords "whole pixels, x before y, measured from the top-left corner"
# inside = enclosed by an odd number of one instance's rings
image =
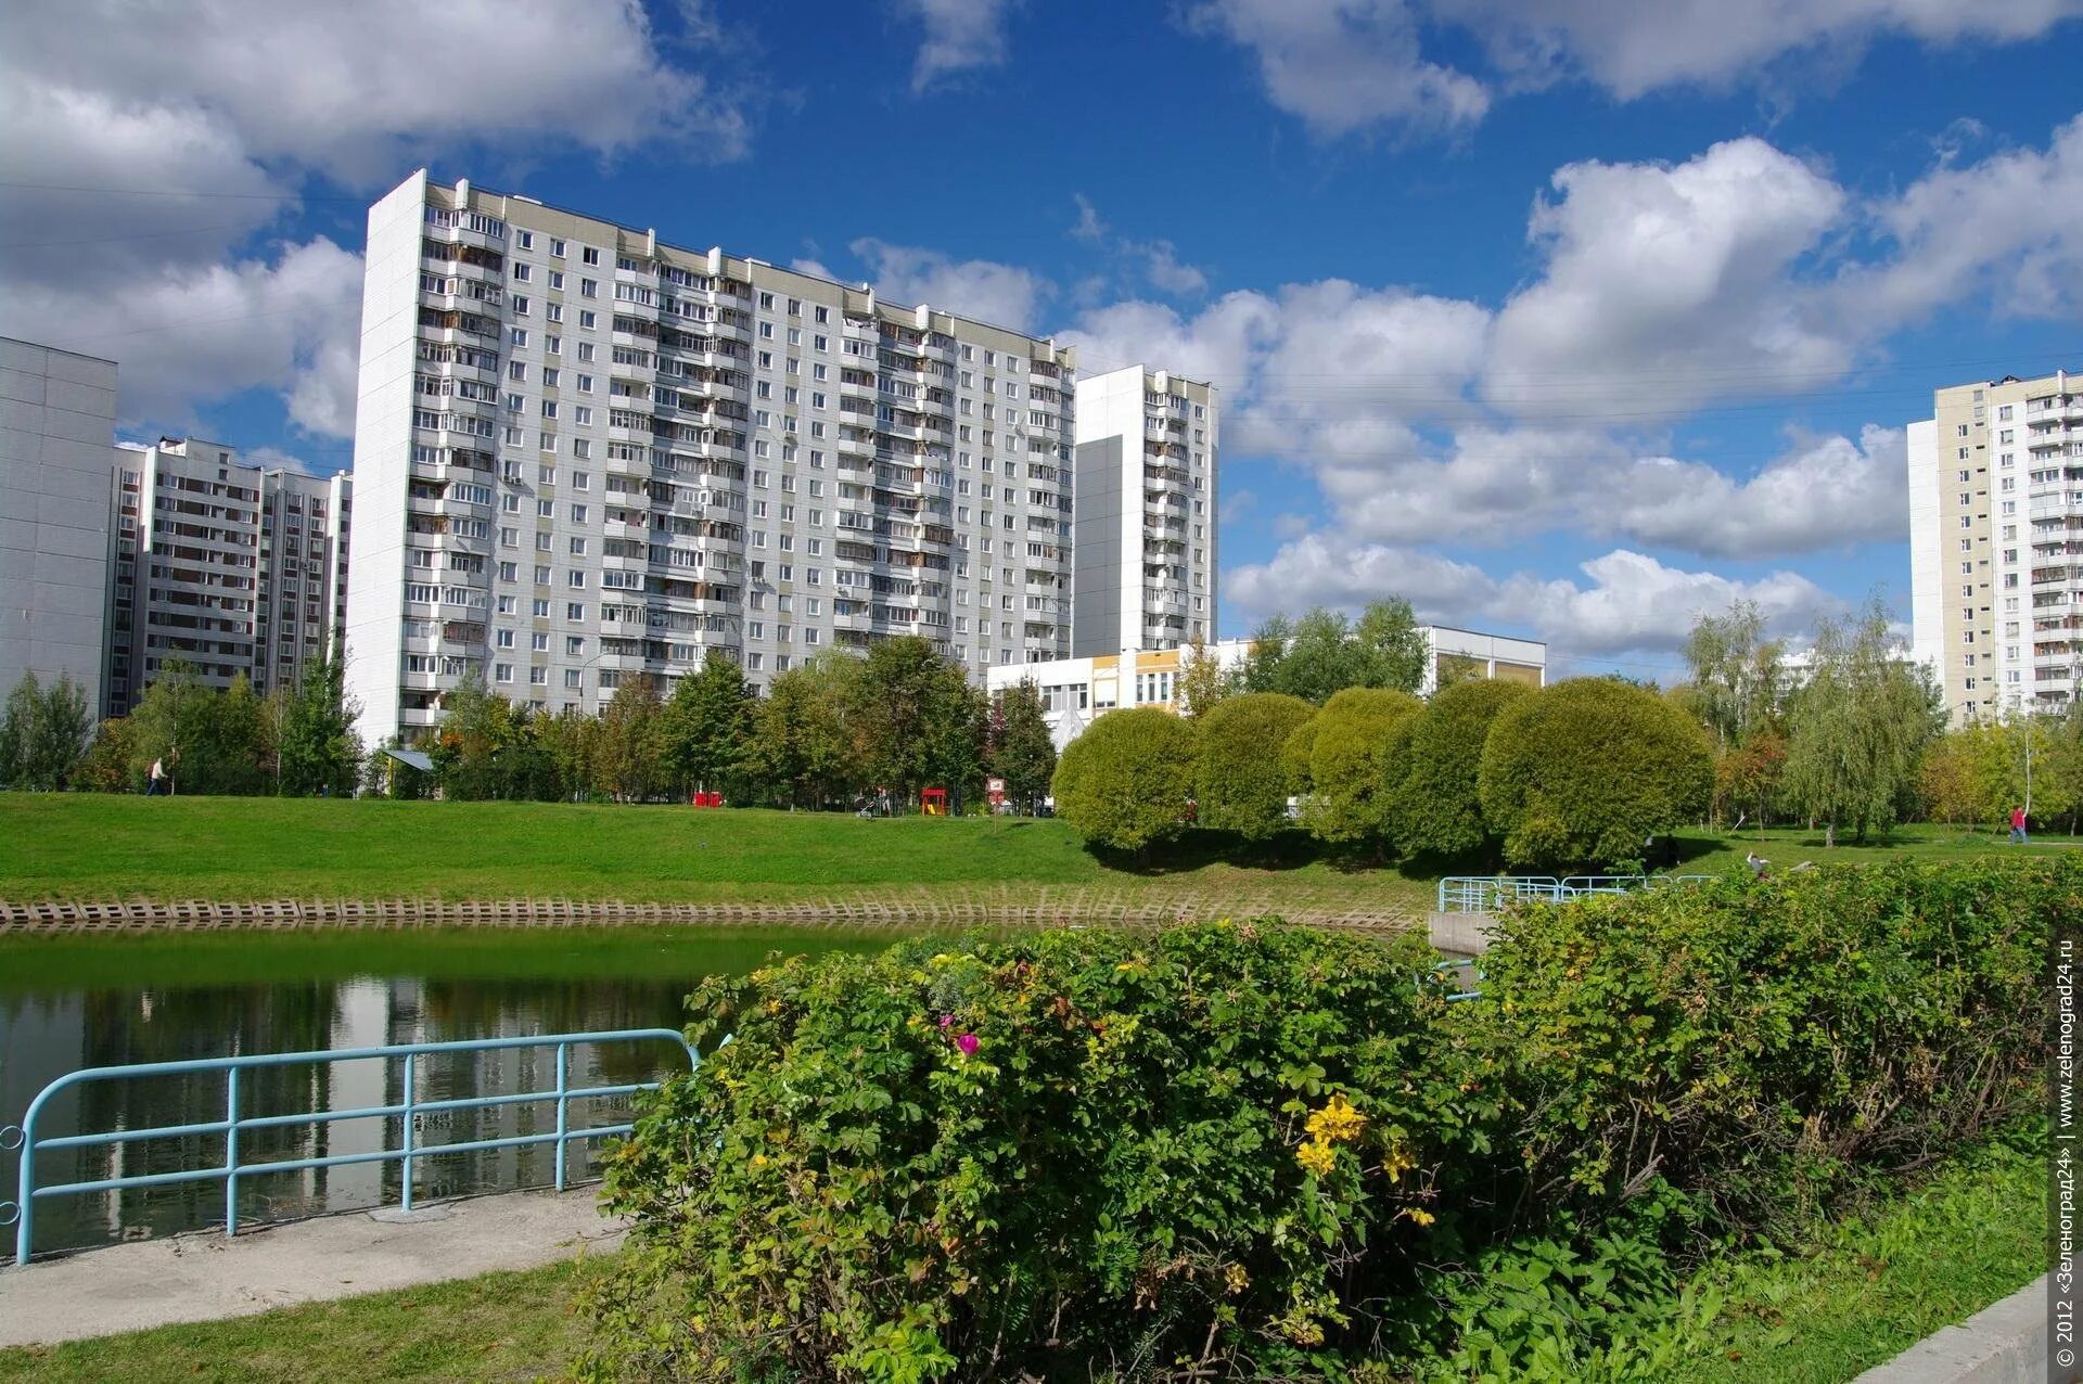
[[[0,337],[0,697],[25,672],[102,701],[117,366]]]

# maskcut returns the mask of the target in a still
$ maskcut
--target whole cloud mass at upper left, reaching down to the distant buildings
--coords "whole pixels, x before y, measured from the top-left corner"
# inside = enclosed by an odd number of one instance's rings
[[[681,12],[685,40],[719,37]],[[79,0],[6,29],[0,331],[115,358],[127,425],[260,387],[296,427],[352,433],[360,256],[262,239],[317,175],[373,189],[433,148],[746,148],[737,102],[637,0]]]

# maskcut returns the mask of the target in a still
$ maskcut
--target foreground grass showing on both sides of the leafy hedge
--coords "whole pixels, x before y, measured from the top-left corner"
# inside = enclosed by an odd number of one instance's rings
[[[1971,1155],[1875,1215],[1789,1257],[1708,1270],[1727,1295],[1712,1353],[1687,1384],[1841,1384],[2041,1272],[2043,1170],[2014,1151]],[[583,1265],[0,1351],[12,1380],[531,1380],[585,1344],[571,1299]]]

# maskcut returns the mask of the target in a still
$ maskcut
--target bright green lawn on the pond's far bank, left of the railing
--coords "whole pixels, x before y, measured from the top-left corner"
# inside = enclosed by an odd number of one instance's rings
[[[1423,880],[1300,851],[1137,870],[1058,820],[0,793],[4,899],[573,897],[667,903],[1183,901],[1196,912],[1421,912]],[[1191,847],[1189,847],[1191,853]]]

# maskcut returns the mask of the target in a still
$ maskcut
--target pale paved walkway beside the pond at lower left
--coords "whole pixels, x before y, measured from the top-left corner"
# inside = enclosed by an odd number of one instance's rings
[[[423,1207],[354,1211],[265,1230],[110,1245],[0,1270],[0,1347],[112,1336],[171,1322],[244,1317],[410,1288],[492,1270],[531,1270],[581,1249],[612,1249],[598,1188],[508,1193]]]

